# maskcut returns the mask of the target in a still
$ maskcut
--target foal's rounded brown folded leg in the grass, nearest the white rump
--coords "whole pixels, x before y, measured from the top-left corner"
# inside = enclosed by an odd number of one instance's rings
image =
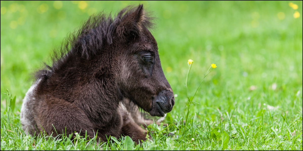
[[[45,131],[47,135],[52,133],[75,135],[76,131],[81,136],[85,136],[85,130],[87,130],[87,135],[94,137],[96,133],[84,111],[65,100],[48,97],[42,99],[35,110],[37,127],[42,132]],[[106,141],[106,139],[101,141]]]

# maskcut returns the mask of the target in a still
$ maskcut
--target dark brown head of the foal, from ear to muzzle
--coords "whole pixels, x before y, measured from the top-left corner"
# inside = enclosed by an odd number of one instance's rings
[[[139,5],[119,19],[113,38],[119,52],[119,89],[144,111],[163,117],[171,111],[175,98],[161,68],[157,42],[147,28],[150,18]]]

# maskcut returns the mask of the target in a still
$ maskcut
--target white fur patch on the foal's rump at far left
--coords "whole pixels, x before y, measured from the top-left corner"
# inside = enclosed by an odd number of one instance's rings
[[[35,127],[35,125],[32,124],[32,121],[30,120],[32,116],[32,111],[30,110],[28,103],[32,100],[35,100],[34,98],[34,91],[38,85],[38,83],[41,81],[39,79],[36,81],[26,92],[25,97],[23,98],[23,103],[20,111],[20,121],[22,123],[22,128],[25,131],[26,134],[28,134],[28,131]],[[33,117],[32,117],[33,118]]]

